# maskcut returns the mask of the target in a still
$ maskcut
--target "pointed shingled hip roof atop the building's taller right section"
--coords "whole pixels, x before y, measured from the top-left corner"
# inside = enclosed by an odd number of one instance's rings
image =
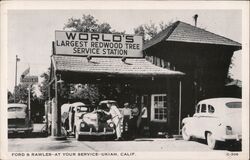
[[[143,45],[143,50],[147,50],[161,42],[182,42],[189,44],[216,45],[232,48],[234,51],[240,50],[241,44],[226,37],[206,31],[202,28],[177,21],[161,31],[155,37]]]

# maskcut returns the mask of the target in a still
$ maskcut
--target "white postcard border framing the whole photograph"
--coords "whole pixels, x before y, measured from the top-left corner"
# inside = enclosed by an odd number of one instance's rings
[[[69,8],[70,6],[70,8]],[[248,1],[2,1],[1,2],[1,159],[8,157],[7,123],[7,11],[8,10],[42,10],[42,9],[240,9],[242,10],[242,76],[243,76],[243,139],[242,152],[237,157],[228,157],[225,152],[137,152],[137,159],[247,159],[249,156],[249,2]],[[232,22],[233,23],[233,22]],[[16,157],[15,157],[16,158]],[[34,157],[31,157],[33,159]],[[46,157],[37,157],[44,159]],[[62,159],[65,157],[61,157]],[[60,158],[60,159],[61,159]],[[28,159],[25,157],[24,159]],[[67,157],[76,159],[76,157]],[[81,158],[82,159],[82,158]],[[89,159],[89,157],[87,157]],[[103,158],[102,158],[103,159]],[[117,157],[109,157],[117,159]],[[121,159],[119,157],[119,159]],[[126,157],[126,159],[130,159]]]

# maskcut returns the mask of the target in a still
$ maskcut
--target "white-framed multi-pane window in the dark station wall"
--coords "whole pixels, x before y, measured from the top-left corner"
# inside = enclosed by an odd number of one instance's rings
[[[155,94],[151,99],[151,120],[167,120],[167,95]]]

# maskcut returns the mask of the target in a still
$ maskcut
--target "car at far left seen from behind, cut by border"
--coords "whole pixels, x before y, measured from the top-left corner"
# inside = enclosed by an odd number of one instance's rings
[[[8,133],[31,133],[33,125],[26,104],[8,104]]]

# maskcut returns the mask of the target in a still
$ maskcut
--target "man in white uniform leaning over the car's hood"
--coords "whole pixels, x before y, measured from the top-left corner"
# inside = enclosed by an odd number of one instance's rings
[[[120,121],[122,119],[122,115],[114,103],[108,102],[107,107],[109,108],[109,112],[107,114],[111,115],[112,121],[115,124],[115,129],[116,129],[115,140],[121,140],[121,122]]]

